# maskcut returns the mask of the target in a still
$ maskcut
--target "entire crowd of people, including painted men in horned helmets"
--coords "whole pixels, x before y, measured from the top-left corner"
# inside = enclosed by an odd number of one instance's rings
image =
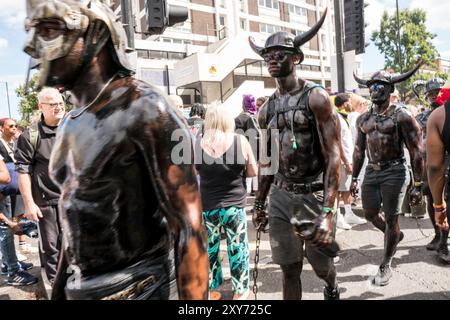
[[[61,2],[67,10],[50,1],[27,6],[32,32],[25,52],[43,61],[40,118],[18,138],[14,120],[1,127],[0,184],[9,188],[1,189],[0,244],[8,284],[38,281],[14,247],[14,234],[34,235],[37,228],[51,299],[217,300],[226,239],[233,299],[244,300],[250,195],[253,227],[260,233],[270,225],[283,299],[302,298],[304,257],[325,283],[324,298],[340,299],[336,227],[367,222],[385,237],[371,281],[387,285],[405,236],[398,223],[402,204],[413,210],[423,194],[435,226],[427,248],[450,262],[444,197],[450,102],[441,107],[438,101],[440,79],[422,83],[429,108],[417,115],[395,91],[422,61],[400,75],[355,76],[369,89],[367,100],[330,97],[297,76],[301,46],[317,34],[325,11],[297,36],[276,32],[263,47],[249,38],[275,79],[271,96],[244,95],[235,119],[220,103],[194,104],[186,119],[180,97],[134,78],[123,27],[108,6]],[[67,12],[81,18],[72,21]],[[68,19],[71,28],[62,28]],[[64,46],[55,48],[55,39]],[[75,109],[65,114],[60,92],[68,88]],[[187,142],[184,149],[180,141]],[[174,150],[181,150],[176,157]],[[358,198],[364,218],[353,212]],[[26,246],[20,239],[19,249]]]

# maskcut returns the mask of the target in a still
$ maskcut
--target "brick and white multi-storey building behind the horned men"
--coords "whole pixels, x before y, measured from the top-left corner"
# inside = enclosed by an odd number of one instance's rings
[[[273,92],[275,82],[269,77],[264,61],[248,51],[248,35],[263,45],[265,39],[276,31],[305,32],[318,21],[325,8],[328,8],[328,17],[318,35],[302,47],[305,60],[298,66],[298,71],[302,78],[324,87],[331,86],[331,60],[336,54],[333,1],[168,0],[169,5],[188,8],[188,20],[168,27],[162,35],[151,36],[145,34],[146,1],[130,1],[136,22],[133,59],[137,77],[168,94],[181,95],[185,104],[224,101],[227,94],[236,92],[236,86],[246,80],[262,83],[264,93],[259,95]],[[120,0],[111,2],[113,9],[120,14]],[[236,41],[240,43],[233,43]],[[227,46],[233,48],[234,65],[224,63],[227,57],[223,52],[230,51]],[[197,71],[192,68],[195,62],[186,67],[181,63],[192,55],[202,54],[203,60],[196,62],[196,68],[206,64],[207,71],[214,76],[210,79],[202,78],[201,74],[190,75]],[[214,55],[218,59],[214,59]],[[233,74],[232,79],[230,74]]]

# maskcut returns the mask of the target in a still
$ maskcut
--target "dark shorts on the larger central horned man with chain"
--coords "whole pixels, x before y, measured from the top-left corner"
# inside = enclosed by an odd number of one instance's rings
[[[269,235],[274,263],[287,265],[303,261],[304,241],[294,233],[290,220],[294,215],[301,219],[314,220],[322,212],[322,203],[322,192],[293,194],[272,185]],[[333,258],[322,254],[309,241],[306,241],[305,247],[306,256],[314,271],[323,273],[334,268]]]

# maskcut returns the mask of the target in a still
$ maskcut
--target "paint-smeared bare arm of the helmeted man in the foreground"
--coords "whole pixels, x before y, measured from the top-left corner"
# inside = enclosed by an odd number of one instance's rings
[[[194,173],[194,154],[186,124],[164,98],[142,99],[143,105],[157,108],[148,113],[145,129],[133,130],[133,140],[149,161],[151,180],[175,238],[176,274],[180,299],[206,299],[208,294],[208,253],[206,232],[201,220],[201,200]],[[156,104],[156,106],[155,106]],[[145,117],[142,117],[145,118]],[[176,133],[181,140],[172,141]],[[172,151],[182,143],[183,155]],[[190,154],[189,154],[190,153]]]

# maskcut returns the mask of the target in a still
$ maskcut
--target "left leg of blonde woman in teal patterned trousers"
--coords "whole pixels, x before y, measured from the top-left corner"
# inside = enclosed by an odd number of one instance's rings
[[[203,221],[208,232],[209,288],[213,290],[223,283],[219,210],[203,211]]]

